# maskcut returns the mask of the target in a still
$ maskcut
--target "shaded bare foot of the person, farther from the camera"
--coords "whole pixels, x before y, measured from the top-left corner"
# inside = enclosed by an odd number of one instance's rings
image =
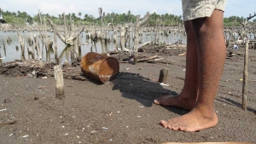
[[[196,96],[184,98],[182,95],[166,95],[154,100],[154,104],[181,107],[186,110],[192,110],[196,104]]]

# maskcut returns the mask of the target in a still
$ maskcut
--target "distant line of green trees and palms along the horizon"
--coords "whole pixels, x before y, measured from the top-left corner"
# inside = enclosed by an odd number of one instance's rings
[[[26,22],[29,24],[33,24],[35,22],[40,24],[38,14],[31,16],[26,14],[26,12],[9,12],[8,10],[4,11],[3,9],[1,9],[0,13],[3,14],[3,19],[6,20],[6,22],[9,24],[24,25]],[[51,19],[56,25],[63,25],[63,14],[58,14],[57,17],[49,14],[41,14],[41,16],[42,18],[45,17],[46,19]],[[95,18],[91,14],[84,14],[84,16],[82,16],[81,12],[78,14],[65,14],[65,16],[67,21],[73,20],[74,25],[101,26],[102,23],[100,17]],[[229,18],[224,18],[224,26],[241,26],[240,22],[244,19],[244,17],[238,16],[230,16]],[[113,23],[113,25],[135,23],[136,20],[137,16],[131,14],[130,10],[126,14],[108,13],[104,14],[103,16],[103,22],[106,25],[108,25],[108,23]],[[153,13],[151,14],[146,26],[178,26],[182,22],[182,15]],[[256,19],[253,20],[253,22],[256,22]]]

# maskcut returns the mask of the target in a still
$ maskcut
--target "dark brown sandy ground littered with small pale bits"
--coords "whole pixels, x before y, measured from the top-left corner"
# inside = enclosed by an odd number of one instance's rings
[[[230,50],[232,51],[232,50]],[[161,62],[120,64],[114,80],[101,84],[64,79],[63,100],[55,99],[55,79],[0,75],[1,144],[45,143],[161,143],[228,142],[256,143],[256,50],[248,62],[247,111],[241,109],[243,50],[227,57],[215,100],[218,125],[200,132],[175,132],[160,126],[187,111],[161,107],[153,100],[183,88],[185,56],[161,56]],[[156,82],[160,69],[169,70],[169,86]]]

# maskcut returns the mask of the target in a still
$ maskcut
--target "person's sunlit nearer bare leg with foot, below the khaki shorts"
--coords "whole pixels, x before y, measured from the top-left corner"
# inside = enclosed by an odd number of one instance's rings
[[[178,118],[172,118],[167,122],[162,120],[160,124],[165,128],[171,130],[197,131],[211,128],[218,123],[213,101],[218,90],[225,60],[226,49],[223,33],[223,14],[223,11],[215,9],[210,18],[191,20],[196,37],[198,57],[197,101],[195,107],[189,113]],[[187,96],[195,97],[195,95]],[[166,99],[166,101],[170,102],[170,99],[171,98]],[[172,100],[177,99],[178,98]],[[154,102],[160,105],[166,104],[163,100],[165,99]],[[175,105],[171,105],[170,102],[169,106]]]

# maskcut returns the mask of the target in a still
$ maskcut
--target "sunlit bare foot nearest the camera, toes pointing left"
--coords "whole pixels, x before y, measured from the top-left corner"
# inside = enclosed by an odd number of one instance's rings
[[[218,117],[214,111],[201,112],[194,108],[191,112],[178,118],[172,118],[167,122],[160,121],[160,124],[170,130],[199,131],[211,128],[218,124]]]

